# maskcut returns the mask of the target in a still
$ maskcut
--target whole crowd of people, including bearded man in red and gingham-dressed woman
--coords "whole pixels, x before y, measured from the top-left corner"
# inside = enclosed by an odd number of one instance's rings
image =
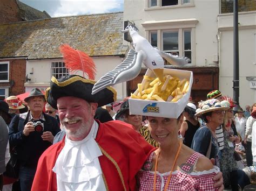
[[[0,101],[0,190],[239,190],[250,183],[242,158],[253,165],[256,104],[234,115],[232,99],[213,90],[178,118],[130,114],[128,99],[115,114],[116,91],[92,95],[94,83],[52,77],[45,95],[33,88],[25,104],[16,96]],[[4,173],[15,156],[17,174]]]

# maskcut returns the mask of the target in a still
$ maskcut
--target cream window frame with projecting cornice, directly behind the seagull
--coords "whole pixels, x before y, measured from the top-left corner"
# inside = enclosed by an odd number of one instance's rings
[[[196,66],[196,24],[197,19],[159,20],[142,23],[146,31],[146,39],[151,39],[151,32],[157,31],[157,48],[163,51],[163,32],[178,31],[179,56],[184,56],[184,31],[191,31],[191,63],[186,66]],[[149,40],[150,41],[150,40]]]

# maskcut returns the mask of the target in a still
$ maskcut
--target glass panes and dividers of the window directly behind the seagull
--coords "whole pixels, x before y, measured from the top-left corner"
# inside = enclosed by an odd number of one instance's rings
[[[161,33],[161,49],[166,53],[171,53],[172,55],[187,56],[191,60],[192,58],[192,48],[191,48],[191,29],[178,29],[178,30],[159,30]],[[157,38],[157,32],[150,33],[151,45],[156,46],[157,40],[152,40]],[[191,62],[190,62],[191,63]]]

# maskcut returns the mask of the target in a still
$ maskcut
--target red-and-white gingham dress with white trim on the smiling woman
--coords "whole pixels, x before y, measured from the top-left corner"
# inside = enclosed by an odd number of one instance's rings
[[[139,190],[153,190],[154,189],[154,172],[150,171],[151,162],[154,152],[146,160],[143,169],[138,173]],[[215,167],[209,171],[190,172],[194,164],[196,164],[200,153],[194,152],[186,163],[180,167],[181,171],[174,171],[171,176],[171,181],[167,190],[217,190],[213,188],[213,176],[219,172],[219,168]],[[170,172],[157,172],[156,190],[164,190]]]

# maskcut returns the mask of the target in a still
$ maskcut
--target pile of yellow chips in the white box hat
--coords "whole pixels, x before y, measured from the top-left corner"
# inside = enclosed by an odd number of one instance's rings
[[[179,80],[176,76],[165,75],[164,81],[159,78],[143,76],[144,82],[138,83],[138,89],[131,98],[154,100],[161,102],[177,102],[186,94],[190,87],[188,79]]]

